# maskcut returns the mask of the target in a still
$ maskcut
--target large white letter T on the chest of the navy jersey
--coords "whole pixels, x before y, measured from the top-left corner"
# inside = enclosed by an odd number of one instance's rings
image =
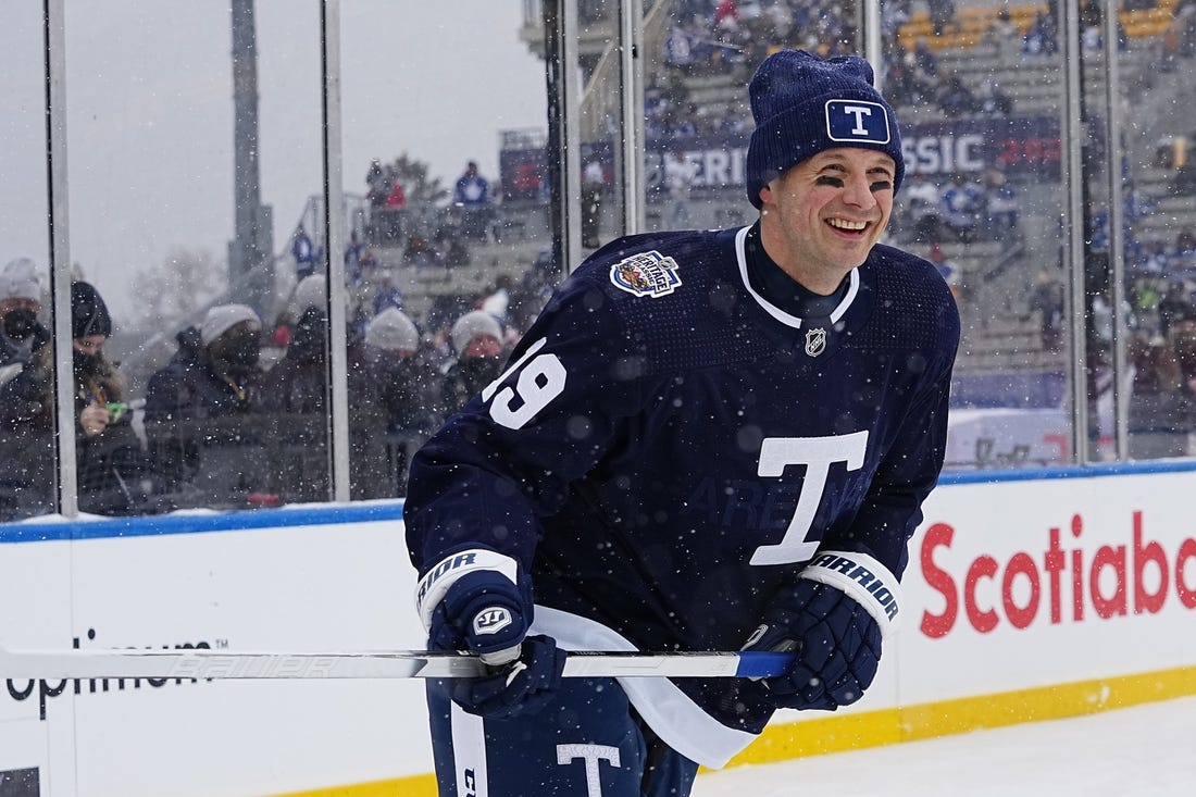
[[[788,565],[806,561],[818,550],[818,541],[808,540],[814,513],[826,489],[826,474],[834,462],[843,462],[848,470],[864,467],[868,448],[868,432],[853,432],[837,437],[769,437],[759,446],[759,476],[780,476],[786,466],[804,464],[806,477],[801,483],[793,519],[785,537],[775,546],[761,546],[751,556],[752,565]]]

